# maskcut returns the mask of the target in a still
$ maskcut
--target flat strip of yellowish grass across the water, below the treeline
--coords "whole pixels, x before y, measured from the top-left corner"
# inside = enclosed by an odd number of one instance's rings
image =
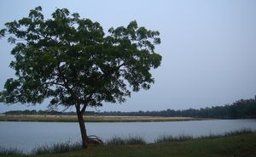
[[[108,116],[87,115],[87,122],[137,122],[137,121],[200,121],[202,118],[192,117],[158,117],[158,116]],[[0,115],[0,121],[52,121],[52,122],[77,122],[76,115]]]

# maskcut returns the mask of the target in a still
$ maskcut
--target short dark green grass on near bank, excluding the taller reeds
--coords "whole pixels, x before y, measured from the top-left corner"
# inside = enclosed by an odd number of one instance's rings
[[[184,142],[108,145],[63,154],[31,157],[255,157],[256,133],[191,139]],[[1,156],[1,155],[0,155]],[[17,155],[19,156],[19,155]],[[28,155],[26,155],[28,156]],[[2,156],[1,156],[2,157]],[[9,155],[9,157],[16,157]]]

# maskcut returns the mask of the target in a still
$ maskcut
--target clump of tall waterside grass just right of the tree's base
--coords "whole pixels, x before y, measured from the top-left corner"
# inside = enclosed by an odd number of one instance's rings
[[[113,137],[106,142],[106,145],[127,145],[127,144],[145,144],[143,137]]]

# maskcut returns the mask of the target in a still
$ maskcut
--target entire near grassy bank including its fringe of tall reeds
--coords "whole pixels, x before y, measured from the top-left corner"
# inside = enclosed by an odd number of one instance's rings
[[[104,145],[91,145],[88,149],[81,149],[80,143],[55,143],[35,148],[28,154],[20,149],[5,149],[0,147],[0,157],[134,157],[146,156],[255,156],[256,133],[244,130],[238,132],[227,132],[224,135],[192,138],[181,137],[160,137],[154,143],[144,143],[141,137],[113,138]],[[64,149],[63,149],[64,148]],[[160,151],[155,151],[155,149]],[[191,150],[193,151],[191,152]],[[236,151],[234,151],[236,149]],[[113,154],[113,152],[115,152]]]

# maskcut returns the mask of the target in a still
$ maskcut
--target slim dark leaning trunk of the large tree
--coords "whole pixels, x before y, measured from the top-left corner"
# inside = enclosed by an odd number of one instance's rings
[[[86,149],[88,147],[87,144],[87,133],[84,125],[84,118],[83,118],[83,112],[80,111],[80,109],[77,108],[77,115],[79,118],[79,127],[80,127],[80,132],[81,132],[81,137],[82,137],[82,146],[83,149]]]

